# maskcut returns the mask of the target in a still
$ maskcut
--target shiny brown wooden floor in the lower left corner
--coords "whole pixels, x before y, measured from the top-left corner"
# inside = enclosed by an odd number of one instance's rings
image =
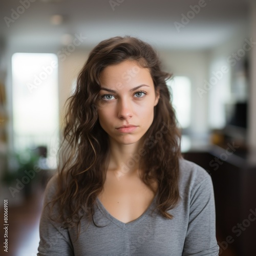
[[[39,220],[42,207],[43,190],[36,193],[19,206],[8,207],[8,253],[4,251],[4,237],[1,231],[0,255],[36,256],[39,244]],[[1,229],[3,227],[3,208],[1,209]]]

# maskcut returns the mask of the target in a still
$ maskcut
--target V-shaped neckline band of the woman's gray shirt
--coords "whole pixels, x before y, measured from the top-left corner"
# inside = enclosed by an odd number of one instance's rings
[[[101,213],[108,218],[112,223],[116,224],[118,227],[122,228],[123,230],[127,230],[129,228],[132,228],[133,226],[137,225],[138,223],[140,223],[145,216],[147,216],[149,214],[149,212],[151,210],[153,210],[153,207],[155,206],[155,202],[157,199],[157,194],[155,195],[153,201],[151,202],[150,206],[147,207],[147,209],[143,212],[143,214],[141,216],[139,216],[137,219],[128,222],[128,223],[124,223],[122,221],[119,221],[118,219],[116,219],[115,217],[113,217],[108,210],[106,210],[106,208],[104,207],[104,205],[101,203],[101,201],[98,199],[98,197],[96,198],[96,203],[98,206],[98,209],[101,211]]]

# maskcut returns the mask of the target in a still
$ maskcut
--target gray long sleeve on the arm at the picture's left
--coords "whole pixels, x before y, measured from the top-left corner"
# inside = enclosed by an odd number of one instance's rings
[[[44,206],[40,219],[39,233],[40,242],[37,256],[71,256],[73,246],[68,229],[61,228],[61,223],[54,222],[49,218],[49,206],[45,205],[52,199],[56,187],[56,177],[47,184],[45,190]],[[54,208],[56,209],[56,207]],[[56,214],[53,210],[52,214]]]

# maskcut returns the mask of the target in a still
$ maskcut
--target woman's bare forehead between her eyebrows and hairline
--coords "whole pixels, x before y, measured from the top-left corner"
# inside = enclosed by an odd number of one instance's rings
[[[125,60],[115,65],[107,66],[100,73],[100,83],[102,87],[118,90],[120,85],[131,89],[139,84],[148,84],[154,87],[150,70],[142,68],[136,60]],[[120,87],[124,88],[124,87]],[[115,89],[114,89],[115,90]]]

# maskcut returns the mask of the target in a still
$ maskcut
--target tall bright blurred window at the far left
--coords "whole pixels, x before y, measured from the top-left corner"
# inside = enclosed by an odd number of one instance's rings
[[[58,59],[50,53],[12,56],[14,148],[46,146],[55,159],[59,136]]]

